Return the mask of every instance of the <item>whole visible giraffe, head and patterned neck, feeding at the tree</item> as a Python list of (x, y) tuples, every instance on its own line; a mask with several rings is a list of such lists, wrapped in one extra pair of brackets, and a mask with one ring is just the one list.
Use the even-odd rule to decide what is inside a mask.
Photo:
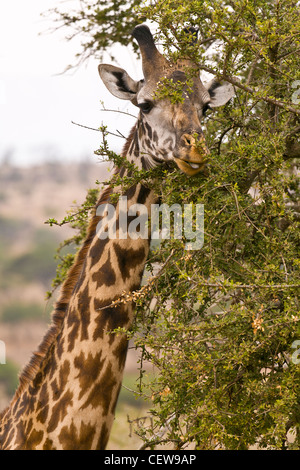
[[(193, 176), (203, 171), (208, 153), (200, 121), (208, 106), (225, 104), (232, 90), (216, 81), (205, 87), (198, 74), (192, 90), (184, 89), (182, 103), (154, 99), (163, 77), (185, 83), (188, 62), (168, 62), (146, 25), (136, 26), (132, 34), (141, 51), (142, 80), (113, 65), (99, 66), (108, 90), (140, 110), (122, 156), (145, 169), (175, 161)], [(130, 170), (121, 166), (115, 171), (123, 177)], [(100, 194), (87, 237), (62, 285), (52, 325), (0, 415), (0, 449), (92, 450), (107, 445), (128, 346), (127, 335), (113, 330), (128, 330), (134, 318), (132, 302), (112, 304), (122, 293), (139, 289), (150, 244), (150, 236), (98, 236), (103, 220), (98, 209), (115, 191), (106, 188)], [(150, 209), (157, 202), (151, 187), (141, 183), (125, 196), (128, 209), (136, 203)]]

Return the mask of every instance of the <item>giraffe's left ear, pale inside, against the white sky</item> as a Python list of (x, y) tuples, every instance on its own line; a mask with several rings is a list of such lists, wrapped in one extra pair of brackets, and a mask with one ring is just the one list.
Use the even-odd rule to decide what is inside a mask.
[(124, 69), (101, 64), (98, 70), (104, 85), (112, 95), (121, 100), (134, 100), (139, 89), (139, 82), (133, 80)]

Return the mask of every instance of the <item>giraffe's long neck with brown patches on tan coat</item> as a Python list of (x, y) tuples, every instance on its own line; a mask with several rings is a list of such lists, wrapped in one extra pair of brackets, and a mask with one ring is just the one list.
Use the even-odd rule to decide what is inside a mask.
[[(130, 161), (139, 156), (138, 132), (137, 125), (124, 148)], [(124, 195), (128, 208), (143, 204), (148, 213), (156, 202), (140, 183)], [(106, 201), (108, 191), (98, 206)], [(150, 240), (100, 239), (99, 221), (95, 214), (62, 288), (56, 324), (0, 417), (0, 448), (104, 449), (107, 444), (127, 354), (127, 335), (113, 330), (127, 330), (134, 318), (131, 302), (112, 303), (139, 288)]]

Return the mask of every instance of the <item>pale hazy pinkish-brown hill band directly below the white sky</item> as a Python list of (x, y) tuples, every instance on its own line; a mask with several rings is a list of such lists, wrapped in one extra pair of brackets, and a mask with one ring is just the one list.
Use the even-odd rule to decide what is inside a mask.
[(96, 180), (108, 178), (107, 164), (89, 161), (26, 168), (0, 165), (0, 215), (42, 227), (47, 218), (63, 217), (74, 201), (81, 202)]

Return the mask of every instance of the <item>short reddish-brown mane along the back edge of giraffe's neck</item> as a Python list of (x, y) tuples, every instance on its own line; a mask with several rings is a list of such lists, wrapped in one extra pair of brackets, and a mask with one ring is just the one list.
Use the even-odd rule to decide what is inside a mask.
[[(126, 143), (124, 145), (124, 148), (121, 154), (124, 158), (126, 157), (128, 149), (130, 147), (135, 129), (136, 129), (136, 126), (132, 128), (128, 138), (126, 139)], [(121, 171), (120, 168), (116, 168), (114, 171), (114, 174), (118, 174), (120, 173), (120, 171)], [(19, 375), (19, 385), (16, 389), (16, 392), (9, 406), (12, 406), (16, 402), (16, 400), (20, 397), (20, 395), (24, 392), (24, 390), (35, 379), (37, 373), (40, 370), (43, 359), (46, 357), (47, 352), (53, 345), (54, 341), (56, 340), (58, 334), (60, 333), (62, 329), (63, 321), (68, 310), (70, 298), (72, 296), (73, 290), (81, 274), (82, 266), (86, 259), (87, 252), (95, 236), (96, 227), (99, 222), (99, 217), (96, 216), (97, 207), (101, 204), (107, 203), (108, 198), (111, 195), (111, 193), (112, 193), (112, 187), (109, 186), (101, 193), (97, 201), (97, 204), (95, 208), (93, 209), (93, 214), (91, 216), (91, 220), (88, 226), (87, 236), (85, 238), (85, 241), (83, 242), (82, 247), (77, 252), (74, 263), (69, 269), (67, 278), (62, 284), (60, 297), (58, 301), (56, 302), (55, 309), (52, 313), (52, 323), (48, 331), (46, 332), (44, 338), (42, 339), (40, 345), (38, 346), (37, 351), (35, 351), (32, 354), (32, 357), (29, 360), (29, 363), (21, 371)], [(2, 412), (0, 412), (0, 420), (4, 417), (8, 408), (5, 408)], [(0, 422), (0, 426), (1, 426), (1, 422)]]

